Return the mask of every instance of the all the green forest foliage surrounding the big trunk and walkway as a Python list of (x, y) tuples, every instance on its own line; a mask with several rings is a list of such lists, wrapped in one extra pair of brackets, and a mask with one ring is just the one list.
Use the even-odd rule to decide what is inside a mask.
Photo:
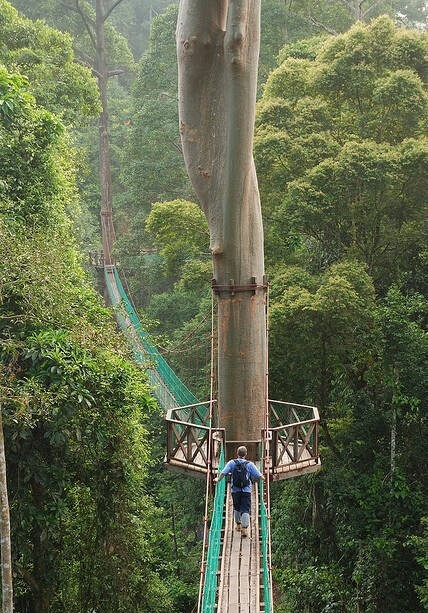
[[(98, 244), (98, 94), (73, 53), (91, 42), (59, 0), (13, 4), (69, 33), (0, 0), (0, 404), (16, 609), (188, 612), (203, 484), (161, 472), (162, 417), (73, 237)], [(202, 399), (211, 262), (179, 145), (177, 3), (151, 21), (168, 4), (124, 1), (107, 26), (109, 65), (127, 69), (109, 91), (115, 249), (145, 324)], [(398, 11), (419, 23), (423, 7), (366, 0), (370, 23), (348, 31), (357, 4), (262, 3), (270, 396), (322, 416), (322, 472), (272, 487), (281, 613), (428, 602), (426, 36), (370, 22)]]

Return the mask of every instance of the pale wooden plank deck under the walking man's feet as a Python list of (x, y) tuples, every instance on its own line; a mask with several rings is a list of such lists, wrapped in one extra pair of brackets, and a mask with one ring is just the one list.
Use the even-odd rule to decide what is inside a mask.
[(258, 613), (260, 611), (260, 541), (258, 485), (253, 485), (251, 522), (247, 537), (235, 530), (233, 504), (228, 485), (225, 528), (218, 592), (218, 613)]

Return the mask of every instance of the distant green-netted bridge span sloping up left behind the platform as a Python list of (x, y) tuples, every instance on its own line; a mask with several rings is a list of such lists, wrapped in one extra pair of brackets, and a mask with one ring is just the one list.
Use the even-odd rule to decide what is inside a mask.
[[(135, 332), (138, 341), (135, 339), (135, 336), (133, 336), (133, 334), (129, 330), (129, 324), (126, 321), (126, 318), (120, 314), (120, 311), (117, 312), (118, 323), (128, 337), (128, 340), (133, 349), (135, 360), (139, 363), (144, 364), (148, 368), (149, 381), (154, 386), (155, 394), (158, 397), (159, 402), (164, 408), (196, 404), (198, 402), (197, 398), (177, 377), (177, 375), (169, 366), (167, 361), (161, 356), (161, 354), (151, 341), (147, 332), (143, 329), (138, 315), (136, 314), (134, 308), (132, 307), (128, 299), (128, 296), (126, 295), (116, 267), (113, 266), (112, 270), (114, 272), (114, 278), (119, 297), (114, 291), (113, 285), (109, 278), (109, 274), (106, 270), (105, 279), (110, 300), (114, 306), (123, 307), (128, 319), (132, 324), (132, 329)], [(166, 399), (163, 390), (159, 389), (159, 383), (161, 383), (161, 387), (164, 386), (169, 392), (169, 399)], [(169, 400), (169, 402), (167, 400)]]

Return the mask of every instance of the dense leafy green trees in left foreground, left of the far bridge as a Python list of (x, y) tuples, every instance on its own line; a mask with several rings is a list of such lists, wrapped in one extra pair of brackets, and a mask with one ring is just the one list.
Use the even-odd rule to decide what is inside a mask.
[(81, 268), (72, 151), (25, 79), (3, 68), (0, 99), (0, 405), (16, 608), (175, 610), (176, 588), (161, 578), (174, 570), (170, 528), (146, 485), (158, 409)]

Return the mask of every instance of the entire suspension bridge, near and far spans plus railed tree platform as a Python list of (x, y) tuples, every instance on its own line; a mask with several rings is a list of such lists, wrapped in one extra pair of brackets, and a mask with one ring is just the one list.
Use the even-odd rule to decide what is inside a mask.
[[(205, 479), (204, 539), (198, 613), (272, 613), (270, 485), (318, 471), (319, 415), (316, 407), (268, 401), (265, 428), (251, 449), (264, 475), (255, 483), (248, 537), (234, 530), (230, 484), (213, 477), (235, 455), (216, 423), (216, 402), (198, 402), (162, 357), (128, 298), (114, 264), (102, 265), (108, 297), (136, 362), (144, 365), (153, 392), (166, 412), (166, 467)], [(211, 512), (210, 512), (210, 509)]]

